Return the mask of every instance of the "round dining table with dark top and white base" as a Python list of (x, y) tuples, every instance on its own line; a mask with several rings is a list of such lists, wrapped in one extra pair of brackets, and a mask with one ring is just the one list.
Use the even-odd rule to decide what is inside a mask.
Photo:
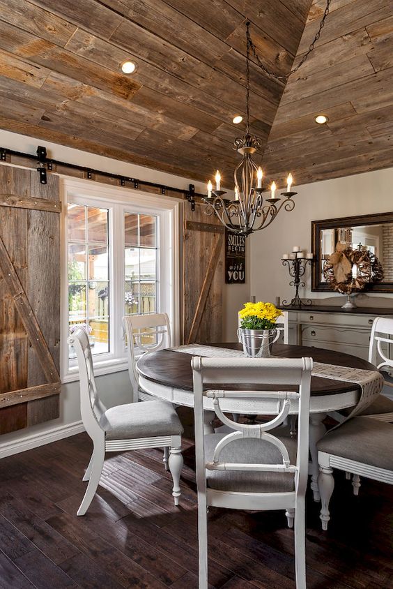
[[(240, 343), (219, 343), (209, 344), (219, 348), (241, 350)], [(201, 355), (203, 351), (201, 348)], [(376, 366), (366, 360), (335, 352), (323, 348), (309, 348), (302, 345), (283, 345), (275, 343), (272, 348), (272, 357), (280, 358), (302, 358), (311, 357), (316, 362), (332, 364), (335, 366), (346, 366), (349, 368), (360, 368), (362, 370), (376, 371)], [(194, 406), (194, 394), (192, 385), (192, 355), (180, 350), (163, 349), (157, 352), (144, 354), (137, 361), (137, 372), (139, 374), (139, 387), (142, 391), (177, 405), (187, 407)], [(239, 387), (228, 383), (223, 389), (236, 390)], [(252, 389), (268, 390), (268, 386), (250, 387)], [(291, 387), (286, 387), (291, 389)], [(241, 385), (241, 390), (247, 387)], [(293, 389), (295, 390), (295, 389)], [(310, 474), (311, 489), (314, 493), (314, 500), (320, 500), (318, 491), (318, 450), (316, 443), (326, 432), (323, 419), (328, 412), (354, 407), (360, 399), (360, 386), (353, 382), (333, 380), (311, 376), (310, 396), (310, 428), (309, 447), (311, 454)], [(277, 400), (273, 399), (222, 399), (220, 403), (222, 410), (234, 414), (245, 415), (276, 415)], [(205, 431), (213, 432), (213, 399), (203, 398)], [(296, 414), (296, 405), (291, 405), (291, 412)]]

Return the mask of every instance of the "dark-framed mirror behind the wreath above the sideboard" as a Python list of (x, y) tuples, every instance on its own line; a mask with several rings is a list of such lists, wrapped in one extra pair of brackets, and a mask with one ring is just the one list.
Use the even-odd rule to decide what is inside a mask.
[(393, 292), (393, 212), (311, 221), (311, 290), (329, 291), (323, 277), (323, 265), (342, 241), (352, 248), (366, 246), (383, 267), (383, 281), (367, 285), (366, 291)]

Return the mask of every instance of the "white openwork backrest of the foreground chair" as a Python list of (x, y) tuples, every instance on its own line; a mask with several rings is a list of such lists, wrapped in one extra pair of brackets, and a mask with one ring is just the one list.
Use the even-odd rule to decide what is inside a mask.
[[(192, 359), (194, 378), (194, 422), (196, 442), (196, 475), (198, 488), (206, 492), (206, 469), (208, 470), (245, 470), (259, 472), (293, 472), (295, 473), (296, 491), (305, 492), (308, 474), (309, 452), (309, 395), (311, 382), (311, 358), (300, 359), (253, 359), (253, 358), (201, 358)], [(297, 392), (252, 391), (252, 393), (232, 391), (206, 391), (206, 387), (227, 387), (228, 383), (236, 385), (291, 385)], [(264, 424), (239, 424), (233, 422), (222, 411), (222, 398), (272, 398), (277, 399), (277, 415)], [(203, 397), (213, 398), (213, 407), (217, 417), (233, 431), (220, 440), (213, 452), (213, 461), (206, 463), (203, 435)], [(296, 464), (291, 464), (286, 445), (268, 431), (277, 428), (291, 411), (291, 404), (298, 403), (299, 435)], [(224, 447), (234, 441), (256, 438), (273, 445), (281, 454), (281, 463), (248, 464), (225, 463), (220, 461)], [(201, 486), (201, 487), (200, 487)], [(202, 491), (203, 492), (203, 491)]]

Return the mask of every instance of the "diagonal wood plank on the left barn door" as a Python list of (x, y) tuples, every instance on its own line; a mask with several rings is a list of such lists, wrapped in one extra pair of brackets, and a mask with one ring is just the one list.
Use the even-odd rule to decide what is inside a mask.
[(3, 239), (0, 237), (0, 271), (3, 274), (4, 283), (7, 285), (10, 295), (17, 308), (20, 318), (22, 319), (24, 329), (29, 337), (31, 345), (36, 351), (38, 361), (43, 369), (45, 378), (49, 382), (59, 382), (60, 377), (54, 364), (51, 353), (43, 336), (43, 332), (38, 325), (36, 315), (30, 306), (29, 299), (26, 297), (22, 283), (17, 276), (13, 262), (8, 255)]

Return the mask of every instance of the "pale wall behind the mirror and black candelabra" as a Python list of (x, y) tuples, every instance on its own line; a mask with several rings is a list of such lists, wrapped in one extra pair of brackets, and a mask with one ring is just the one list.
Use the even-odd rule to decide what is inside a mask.
[[(275, 302), (277, 296), (291, 300), (293, 288), (289, 286), (288, 269), (282, 266), (280, 258), (283, 253), (290, 252), (292, 246), (311, 251), (311, 221), (393, 211), (393, 167), (295, 186), (294, 189), (298, 192), (294, 197), (295, 209), (289, 213), (281, 211), (270, 227), (249, 238), (251, 295), (257, 300)], [(302, 297), (340, 296), (311, 292), (309, 269), (305, 278)], [(392, 299), (393, 295), (376, 293), (369, 296)]]

